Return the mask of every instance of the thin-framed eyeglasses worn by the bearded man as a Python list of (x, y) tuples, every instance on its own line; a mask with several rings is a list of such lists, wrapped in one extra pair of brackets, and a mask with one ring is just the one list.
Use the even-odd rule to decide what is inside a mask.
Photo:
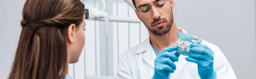
[[(168, 0), (160, 0), (157, 3), (154, 4), (155, 8), (162, 8), (164, 6), (164, 3), (166, 3)], [(138, 8), (137, 11), (141, 11), (143, 14), (148, 13), (149, 11), (152, 10), (152, 6), (143, 6)]]

